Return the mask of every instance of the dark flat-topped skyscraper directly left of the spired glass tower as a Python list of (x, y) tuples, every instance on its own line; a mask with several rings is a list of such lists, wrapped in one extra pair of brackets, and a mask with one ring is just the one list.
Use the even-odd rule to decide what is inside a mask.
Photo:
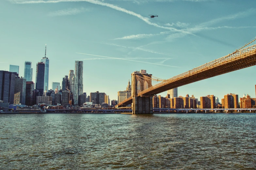
[(39, 90), (39, 95), (43, 95), (44, 89), (44, 70), (45, 63), (39, 62), (37, 63), (37, 71), (36, 71), (36, 89)]

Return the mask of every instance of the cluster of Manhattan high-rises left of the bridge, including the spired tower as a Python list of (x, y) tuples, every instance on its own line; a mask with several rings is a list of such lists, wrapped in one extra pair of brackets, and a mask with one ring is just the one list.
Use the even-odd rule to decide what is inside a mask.
[(83, 87), (83, 61), (75, 61), (75, 69), (62, 78), (62, 82), (52, 82), (49, 90), (49, 59), (44, 57), (36, 63), (35, 83), (32, 81), (31, 61), (24, 63), (24, 77), (19, 76), (19, 66), (10, 65), (9, 71), (0, 70), (0, 109), (8, 110), (9, 105), (38, 106), (48, 105), (56, 108), (92, 105), (109, 107), (109, 96), (105, 93), (90, 93), (87, 96)]

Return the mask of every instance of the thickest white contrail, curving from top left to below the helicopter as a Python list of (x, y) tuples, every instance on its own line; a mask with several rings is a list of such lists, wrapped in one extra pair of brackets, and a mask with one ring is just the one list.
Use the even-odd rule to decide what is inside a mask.
[(173, 31), (173, 32), (184, 32), (186, 34), (191, 34), (190, 32), (187, 32), (187, 31), (184, 31), (184, 30), (176, 29), (176, 28), (173, 28), (173, 27), (161, 26), (161, 25), (158, 25), (157, 23), (152, 23), (150, 21), (150, 18), (148, 18), (148, 17), (143, 17), (142, 15), (137, 14), (137, 13), (135, 13), (133, 11), (127, 10), (125, 8), (121, 8), (121, 7), (118, 7), (116, 5), (105, 3), (105, 2), (102, 2), (102, 1), (97, 1), (97, 0), (48, 0), (48, 1), (44, 1), (44, 0), (25, 0), (25, 1), (24, 0), (10, 0), (10, 2), (16, 3), (16, 4), (39, 4), (39, 3), (59, 3), (59, 2), (88, 2), (88, 3), (92, 3), (92, 4), (96, 4), (96, 5), (101, 5), (101, 6), (109, 7), (109, 8), (112, 8), (112, 9), (115, 9), (115, 10), (127, 13), (129, 15), (133, 15), (133, 16), (141, 19), (145, 23), (147, 23), (149, 25), (152, 25), (152, 26), (155, 26), (155, 27), (158, 27), (158, 28), (167, 29), (167, 30), (170, 30), (170, 31)]

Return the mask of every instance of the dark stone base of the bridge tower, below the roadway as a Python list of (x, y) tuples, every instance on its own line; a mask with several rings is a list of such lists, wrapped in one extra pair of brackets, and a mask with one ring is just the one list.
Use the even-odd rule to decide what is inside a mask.
[(153, 114), (153, 97), (133, 97), (133, 114)]

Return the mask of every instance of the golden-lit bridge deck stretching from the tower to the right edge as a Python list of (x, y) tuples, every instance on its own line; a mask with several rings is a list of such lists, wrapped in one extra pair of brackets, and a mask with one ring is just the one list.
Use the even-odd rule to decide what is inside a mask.
[[(246, 44), (245, 46), (247, 46), (248, 44)], [(197, 68), (194, 68), (192, 70), (174, 76), (168, 80), (165, 80), (157, 85), (149, 87), (148, 89), (138, 93), (137, 96), (156, 95), (169, 89), (173, 89), (210, 77), (256, 65), (256, 45), (252, 45), (246, 48), (244, 47), (236, 50), (232, 54), (228, 54), (209, 63), (205, 63)], [(133, 98), (130, 97), (118, 103), (118, 106), (131, 104), (132, 102)]]

